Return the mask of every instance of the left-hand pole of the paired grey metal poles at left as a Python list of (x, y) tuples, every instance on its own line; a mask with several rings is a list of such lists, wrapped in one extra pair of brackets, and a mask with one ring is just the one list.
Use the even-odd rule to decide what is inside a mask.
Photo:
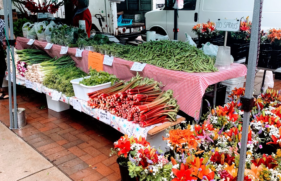
[[(3, 0), (4, 6), (4, 21), (5, 21), (5, 30), (9, 32), (9, 24), (8, 24), (8, 3), (7, 0)], [(8, 36), (8, 34), (7, 34)], [(11, 68), (10, 68), (10, 50), (7, 45), (7, 69), (8, 69), (8, 88), (9, 88), (9, 113), (10, 113), (10, 129), (13, 128), (13, 113), (12, 113), (12, 82), (11, 82)]]

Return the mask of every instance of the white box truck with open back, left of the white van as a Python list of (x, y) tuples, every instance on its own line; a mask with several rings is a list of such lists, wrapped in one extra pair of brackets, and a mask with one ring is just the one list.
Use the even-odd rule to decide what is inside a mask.
[[(122, 0), (121, 0), (122, 1)], [(125, 0), (120, 3), (109, 0), (89, 1), (89, 10), (92, 15), (92, 28), (98, 32), (110, 33), (118, 39), (135, 39), (144, 30), (144, 14), (156, 9), (151, 0)], [(133, 22), (131, 25), (118, 26), (118, 14), (138, 14), (141, 22)]]

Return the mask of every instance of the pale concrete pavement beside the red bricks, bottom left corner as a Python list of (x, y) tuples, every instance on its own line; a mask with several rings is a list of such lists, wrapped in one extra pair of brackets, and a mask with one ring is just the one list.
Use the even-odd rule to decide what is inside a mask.
[(4, 124), (0, 124), (0, 180), (71, 181)]

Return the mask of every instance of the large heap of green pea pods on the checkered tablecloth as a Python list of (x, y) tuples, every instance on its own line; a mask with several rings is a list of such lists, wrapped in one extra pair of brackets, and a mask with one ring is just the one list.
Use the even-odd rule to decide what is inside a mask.
[(182, 41), (149, 41), (131, 49), (120, 58), (189, 73), (218, 71), (213, 57)]

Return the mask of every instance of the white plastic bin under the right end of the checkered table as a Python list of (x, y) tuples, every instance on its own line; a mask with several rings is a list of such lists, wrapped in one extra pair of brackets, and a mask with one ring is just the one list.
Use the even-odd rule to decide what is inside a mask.
[(237, 89), (244, 86), (245, 77), (237, 77), (222, 81), (221, 84), (226, 85), (225, 102), (228, 102), (228, 95), (231, 94), (232, 90), (236, 87)]

